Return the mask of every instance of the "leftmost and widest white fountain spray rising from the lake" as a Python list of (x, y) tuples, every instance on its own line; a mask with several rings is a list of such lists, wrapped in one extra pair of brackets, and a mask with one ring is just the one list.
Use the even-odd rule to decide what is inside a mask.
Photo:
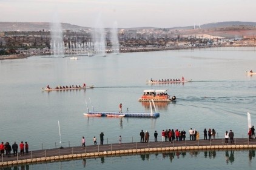
[(55, 57), (64, 57), (64, 42), (62, 37), (62, 27), (59, 23), (58, 15), (55, 13), (51, 24), (51, 50)]

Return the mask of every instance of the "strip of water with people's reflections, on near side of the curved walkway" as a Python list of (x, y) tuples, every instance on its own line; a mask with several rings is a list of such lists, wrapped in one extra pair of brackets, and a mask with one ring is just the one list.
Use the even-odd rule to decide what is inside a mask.
[[(236, 159), (235, 159), (236, 157)], [(194, 160), (197, 161), (194, 161)], [(184, 164), (185, 166), (191, 164), (191, 166), (198, 165), (197, 162), (204, 161), (207, 164), (214, 164), (218, 169), (229, 169), (226, 166), (236, 166), (240, 165), (244, 169), (248, 169), (252, 165), (256, 165), (255, 150), (227, 150), (227, 151), (175, 151), (175, 152), (162, 152), (162, 153), (152, 153), (152, 154), (140, 154), (140, 155), (121, 155), (121, 156), (107, 156), (99, 158), (87, 158), (79, 160), (70, 160), (64, 162), (55, 163), (41, 163), (33, 165), (19, 165), (13, 167), (5, 167), (3, 170), (18, 170), (18, 169), (134, 169), (144, 166), (145, 163), (149, 164), (149, 168), (160, 168), (163, 165), (172, 164), (173, 168), (178, 168), (177, 165)], [(141, 160), (141, 161), (140, 161)], [(249, 162), (248, 162), (249, 160)], [(134, 163), (136, 162), (136, 163)], [(236, 162), (236, 163), (235, 163)], [(104, 166), (101, 166), (103, 165)], [(124, 166), (127, 165), (127, 166)], [(226, 166), (225, 166), (226, 165)], [(83, 166), (83, 167), (81, 167)], [(51, 168), (49, 168), (51, 167)], [(201, 165), (198, 165), (198, 169)], [(239, 169), (239, 168), (238, 168)], [(250, 168), (249, 168), (250, 169)]]

